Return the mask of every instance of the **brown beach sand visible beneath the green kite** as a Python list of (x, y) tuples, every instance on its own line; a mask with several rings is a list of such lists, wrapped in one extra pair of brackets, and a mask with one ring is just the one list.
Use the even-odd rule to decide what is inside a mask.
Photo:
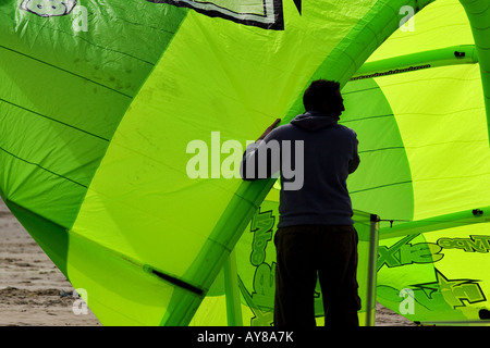
[[(51, 262), (0, 199), (0, 325), (100, 326)], [(413, 326), (377, 303), (377, 326)]]

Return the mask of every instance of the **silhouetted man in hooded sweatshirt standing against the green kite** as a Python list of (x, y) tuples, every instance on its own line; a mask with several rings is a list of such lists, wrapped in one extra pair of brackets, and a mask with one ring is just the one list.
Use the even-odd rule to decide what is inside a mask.
[[(303, 96), (306, 112), (290, 124), (274, 128), (272, 124), (247, 148), (242, 162), (244, 179), (250, 176), (247, 166), (267, 165), (268, 176), (273, 157), (256, 161), (268, 144), (281, 145), (281, 194), (277, 247), (274, 325), (315, 325), (314, 291), (317, 274), (323, 295), (326, 326), (358, 326), (357, 311), (357, 233), (353, 227), (352, 202), (346, 179), (358, 164), (357, 137), (354, 130), (339, 125), (345, 110), (335, 82), (311, 83)], [(264, 139), (264, 140), (262, 140)], [(284, 140), (302, 142), (292, 147), (289, 159), (303, 165), (302, 186), (286, 189), (291, 177), (283, 175)], [(303, 149), (298, 160), (298, 149)], [(264, 162), (264, 161), (262, 161)], [(297, 167), (296, 167), (297, 170)], [(254, 172), (254, 171), (252, 171)]]

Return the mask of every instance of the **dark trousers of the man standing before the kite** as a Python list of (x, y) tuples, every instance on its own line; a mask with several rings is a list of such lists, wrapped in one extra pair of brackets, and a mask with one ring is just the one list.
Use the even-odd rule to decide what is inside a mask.
[(317, 274), (326, 326), (358, 326), (357, 232), (353, 226), (278, 228), (274, 326), (314, 326)]

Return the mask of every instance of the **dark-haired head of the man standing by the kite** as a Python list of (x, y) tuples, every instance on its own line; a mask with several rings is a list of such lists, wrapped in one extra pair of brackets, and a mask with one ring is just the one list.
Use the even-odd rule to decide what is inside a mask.
[(306, 111), (321, 111), (335, 120), (345, 110), (343, 101), (340, 84), (327, 79), (314, 80), (303, 95)]

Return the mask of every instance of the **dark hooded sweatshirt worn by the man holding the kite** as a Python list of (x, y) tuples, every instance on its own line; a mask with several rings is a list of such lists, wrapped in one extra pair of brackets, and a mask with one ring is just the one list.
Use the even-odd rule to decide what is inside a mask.
[[(269, 151), (272, 154), (268, 157), (266, 176), (278, 177), (273, 163), (279, 161), (282, 188), (278, 227), (352, 225), (346, 181), (359, 165), (355, 132), (317, 111), (301, 114), (290, 124), (274, 128), (258, 146), (247, 147), (242, 161), (244, 179), (265, 178), (258, 173), (261, 163), (258, 152), (267, 147), (273, 149), (273, 142), (280, 145), (281, 154)], [(252, 175), (246, 171), (250, 161), (256, 169)]]

